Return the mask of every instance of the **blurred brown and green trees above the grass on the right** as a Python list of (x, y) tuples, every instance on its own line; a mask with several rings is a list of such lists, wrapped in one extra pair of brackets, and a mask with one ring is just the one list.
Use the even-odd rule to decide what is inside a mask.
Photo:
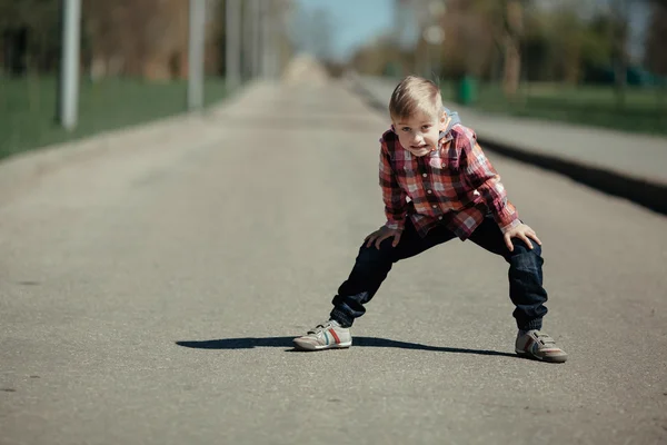
[[(667, 0), (610, 0), (588, 2), (557, 0), (551, 7), (531, 0), (449, 0), (436, 23), (445, 31), (434, 47), (424, 37), (410, 48), (397, 44), (392, 30), (358, 50), (355, 69), (369, 75), (397, 70), (424, 71), (457, 79), (466, 75), (501, 82), (516, 92), (519, 81), (616, 83), (659, 81), (667, 76)], [(629, 12), (644, 3), (650, 8), (644, 57), (630, 57)], [(422, 8), (414, 2), (415, 8)], [(420, 30), (421, 31), (421, 30)], [(640, 67), (638, 69), (637, 67)]]

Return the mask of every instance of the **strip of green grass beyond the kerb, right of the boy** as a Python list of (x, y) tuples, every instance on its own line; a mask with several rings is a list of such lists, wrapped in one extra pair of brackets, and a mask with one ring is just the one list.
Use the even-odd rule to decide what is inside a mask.
[[(445, 93), (454, 98), (454, 88)], [(508, 101), (496, 85), (480, 86), (474, 107), (489, 112), (667, 135), (667, 90), (628, 88), (619, 102), (609, 87), (524, 86)]]

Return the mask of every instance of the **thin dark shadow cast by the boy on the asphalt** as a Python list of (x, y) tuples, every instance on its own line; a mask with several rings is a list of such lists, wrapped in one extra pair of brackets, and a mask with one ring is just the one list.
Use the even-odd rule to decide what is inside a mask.
[[(255, 347), (292, 347), (293, 337), (265, 337), (265, 338), (221, 338), (217, 340), (201, 342), (176, 342), (177, 345), (196, 349), (251, 349)], [(501, 353), (497, 350), (485, 349), (462, 349), (441, 346), (420, 345), (418, 343), (396, 342), (378, 337), (355, 337), (355, 347), (392, 347), (400, 349), (432, 350), (437, 353), (457, 353), (457, 354), (477, 354), (496, 355), (502, 357), (517, 357), (516, 354)]]

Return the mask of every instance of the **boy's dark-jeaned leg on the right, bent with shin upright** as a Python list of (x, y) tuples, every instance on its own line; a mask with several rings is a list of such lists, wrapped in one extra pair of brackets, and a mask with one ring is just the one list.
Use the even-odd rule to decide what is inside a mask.
[(512, 239), (514, 251), (509, 251), (500, 228), (492, 217), (472, 233), (470, 240), (509, 263), (509, 297), (516, 309), (512, 314), (520, 330), (541, 329), (547, 314), (547, 291), (542, 287), (541, 248), (532, 241), (532, 249), (520, 239)]

